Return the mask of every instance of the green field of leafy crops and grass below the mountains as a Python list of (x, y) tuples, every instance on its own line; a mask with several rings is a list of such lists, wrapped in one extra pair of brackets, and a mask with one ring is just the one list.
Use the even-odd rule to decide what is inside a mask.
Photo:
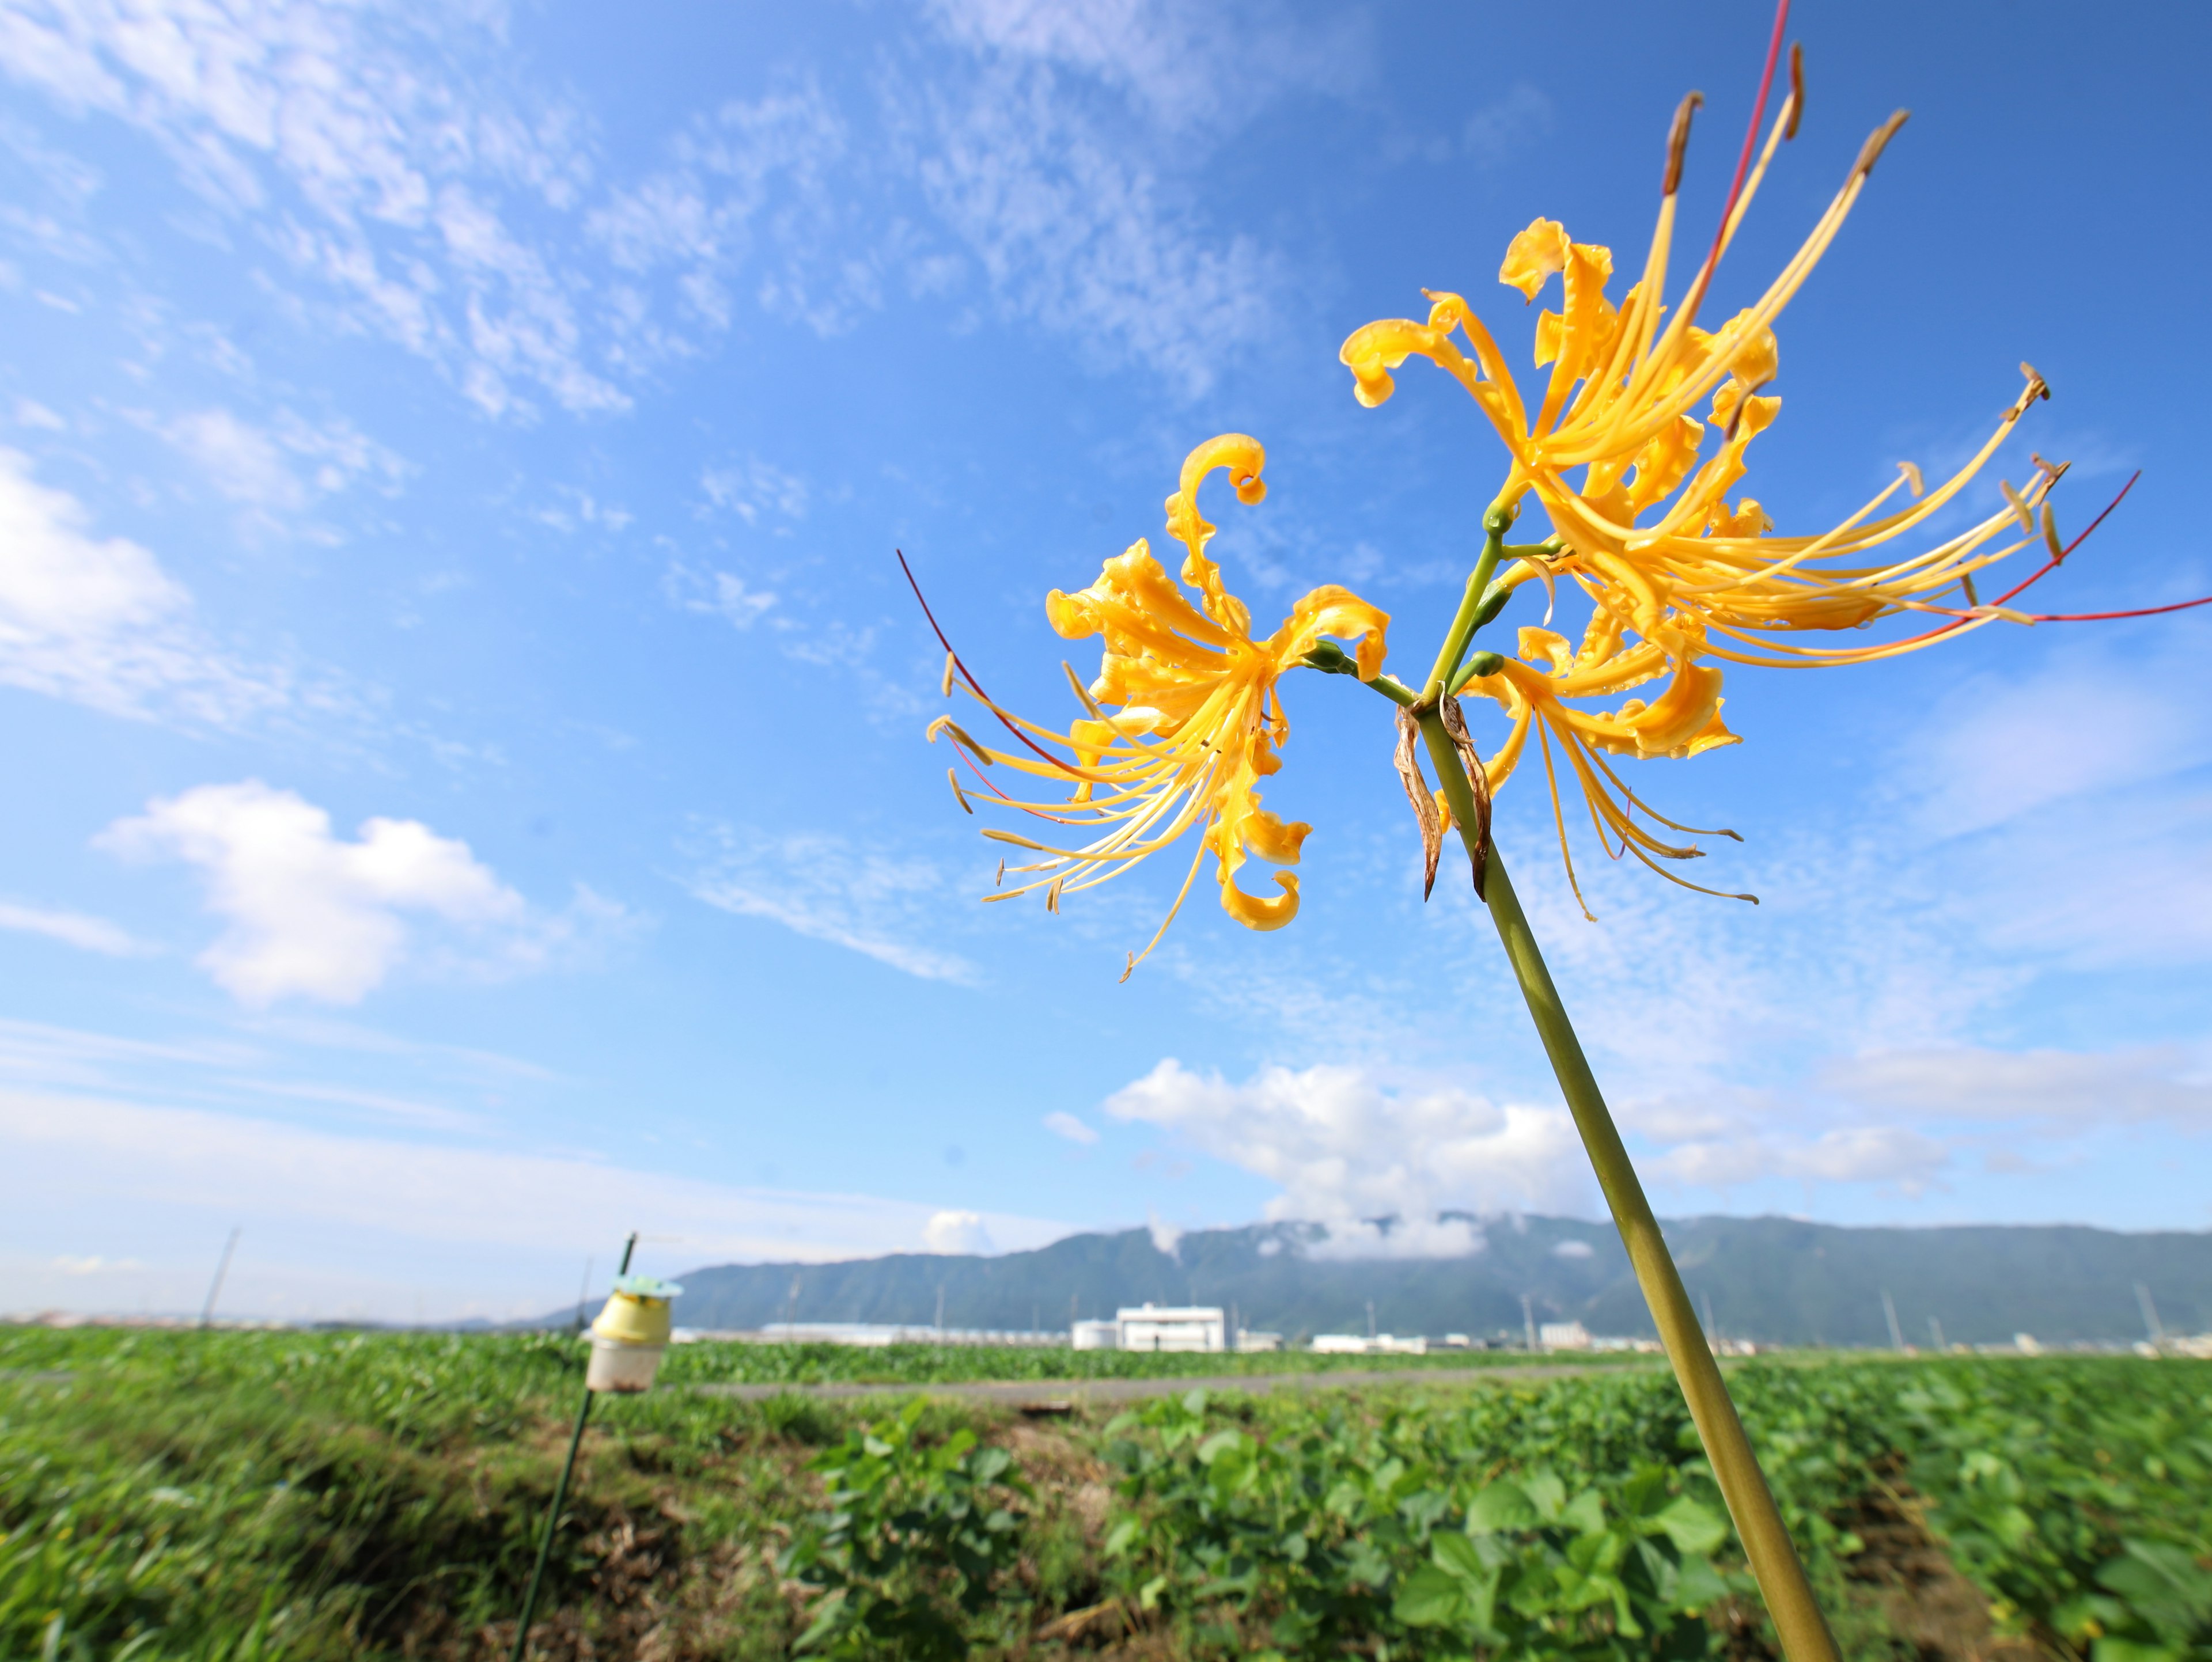
[[(1223, 1364), (670, 1353), (599, 1406), (533, 1653), (1770, 1653), (1650, 1368), (1051, 1419), (688, 1388), (1073, 1361)], [(504, 1655), (580, 1372), (553, 1337), (0, 1328), (0, 1658)], [(1847, 1655), (2212, 1662), (2212, 1366), (1732, 1381)]]

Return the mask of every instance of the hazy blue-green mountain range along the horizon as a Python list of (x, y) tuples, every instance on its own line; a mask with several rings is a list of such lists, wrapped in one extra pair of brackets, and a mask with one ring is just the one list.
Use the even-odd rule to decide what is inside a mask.
[[(1124, 1229), (1002, 1255), (898, 1253), (836, 1264), (721, 1264), (679, 1280), (677, 1322), (891, 1322), (1064, 1328), (1128, 1304), (1234, 1306), (1248, 1328), (1517, 1337), (1579, 1319), (1599, 1335), (1650, 1335), (1610, 1224), (1573, 1218), (1464, 1220), (1458, 1258), (1338, 1255), (1318, 1224)], [(2170, 1333), (2212, 1328), (2212, 1233), (2117, 1233), (2073, 1224), (1847, 1229), (1792, 1218), (1679, 1218), (1666, 1235), (1692, 1302), (1719, 1335), (1772, 1344), (1991, 1344), (2141, 1339), (2150, 1308)], [(1385, 1238), (1387, 1246), (1387, 1238)], [(2143, 1288), (2143, 1295), (2137, 1288)], [(1524, 1306), (1522, 1300), (1528, 1300)]]

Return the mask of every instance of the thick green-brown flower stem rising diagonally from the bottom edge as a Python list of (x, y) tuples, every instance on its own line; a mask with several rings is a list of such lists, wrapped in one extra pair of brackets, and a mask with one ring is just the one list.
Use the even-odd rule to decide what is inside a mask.
[[(1429, 756), (1442, 780), (1444, 800), (1451, 804), (1451, 818), (1460, 827), (1460, 840), (1467, 844), (1469, 858), (1473, 858), (1473, 787), (1467, 782), (1467, 771), (1451, 747), (1451, 736), (1433, 709), (1422, 714), (1420, 734), (1429, 740)], [(1484, 869), (1482, 888), (1489, 900), (1491, 922), (1498, 924), (1498, 939), (1504, 942), (1506, 961), (1513, 966), (1513, 979), (1520, 981), (1522, 997), (1528, 1001), (1528, 1014), (1535, 1019), (1537, 1037), (1544, 1041), (1544, 1054), (1551, 1056), (1551, 1070), (1559, 1076), (1559, 1090), (1566, 1092), (1566, 1107), (1575, 1116), (1575, 1129), (1582, 1132), (1582, 1147), (1590, 1154), (1597, 1185), (1604, 1189), (1606, 1207), (1610, 1207), (1613, 1222), (1621, 1231), (1628, 1262), (1637, 1271), (1637, 1286), (1644, 1288), (1644, 1302), (1659, 1326), (1668, 1364), (1674, 1368), (1681, 1395), (1690, 1403), (1690, 1419), (1697, 1421), (1697, 1434), (1705, 1443), (1705, 1461), (1712, 1465), (1721, 1496), (1728, 1501), (1728, 1514), (1736, 1523), (1736, 1538), (1743, 1540), (1743, 1554), (1752, 1560), (1759, 1591), (1774, 1616), (1783, 1655), (1790, 1662), (1840, 1662), (1836, 1640), (1827, 1631), (1820, 1607), (1814, 1602), (1812, 1582), (1805, 1580), (1805, 1565), (1798, 1563), (1796, 1547), (1774, 1505), (1774, 1494), (1759, 1470), (1759, 1456), (1752, 1454), (1752, 1443), (1743, 1434), (1743, 1421), (1736, 1419), (1736, 1406), (1728, 1397), (1721, 1366), (1714, 1361), (1712, 1346), (1705, 1342), (1697, 1313), (1690, 1308), (1690, 1293), (1683, 1288), (1674, 1258), (1666, 1249), (1659, 1220), (1652, 1216), (1650, 1200), (1644, 1198), (1644, 1185), (1637, 1180), (1637, 1169), (1621, 1145), (1621, 1134), (1613, 1125), (1613, 1114), (1606, 1112), (1597, 1076), (1590, 1074), (1590, 1061), (1582, 1054), (1582, 1041), (1575, 1039), (1575, 1028), (1566, 1019), (1559, 988), (1551, 983), (1551, 970), (1544, 968), (1544, 955), (1537, 950), (1535, 933), (1528, 928), (1528, 917), (1520, 908), (1520, 897), (1513, 893), (1513, 882), (1506, 877), (1495, 846)]]

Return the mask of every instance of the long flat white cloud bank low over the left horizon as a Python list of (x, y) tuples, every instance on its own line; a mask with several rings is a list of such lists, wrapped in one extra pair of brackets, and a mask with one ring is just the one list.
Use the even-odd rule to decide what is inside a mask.
[[(139, 1280), (71, 1288), (51, 1258), (13, 1260), (9, 1300), (197, 1308), (232, 1224), (232, 1313), (434, 1319), (542, 1315), (575, 1295), (586, 1253), (644, 1229), (675, 1273), (732, 1260), (832, 1262), (911, 1251), (936, 1209), (648, 1171), (577, 1154), (405, 1143), (283, 1121), (0, 1090), (11, 1224), (73, 1258), (131, 1251)], [(690, 1163), (697, 1169), (697, 1160)], [(971, 1213), (1002, 1249), (1068, 1224)], [(35, 1271), (35, 1273), (33, 1273)], [(418, 1302), (425, 1291), (427, 1302)]]

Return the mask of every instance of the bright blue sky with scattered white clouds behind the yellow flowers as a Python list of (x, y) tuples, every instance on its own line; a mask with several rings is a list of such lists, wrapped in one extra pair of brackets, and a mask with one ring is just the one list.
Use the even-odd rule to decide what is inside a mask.
[[(1338, 343), (1531, 219), (1641, 256), (1668, 115), (1710, 234), (1763, 4), (0, 9), (0, 1306), (538, 1311), (602, 1271), (1068, 1229), (1590, 1213), (1495, 939), (1380, 701), (1294, 676), (1305, 906), (1161, 862), (978, 906), (940, 654), (1068, 712), (1042, 595), (1161, 541), (1263, 623), (1343, 581), (1425, 652), (1500, 477)], [(2073, 460), (2048, 610), (2212, 588), (2208, 22), (1803, 4), (1807, 117), (1712, 316), (1913, 119), (1781, 323), (1785, 530)], [(1221, 486), (1214, 486), (1221, 491)], [(1223, 493), (1225, 502), (1225, 493)], [(1533, 621), (1509, 617), (1506, 623)], [(1747, 908), (1500, 840), (1661, 1211), (2212, 1224), (2212, 617), (1732, 670), (1648, 762)], [(1095, 650), (1095, 648), (1088, 648)], [(1077, 654), (1082, 665), (1086, 654)], [(1478, 743), (1484, 736), (1478, 718)], [(1117, 893), (1119, 891), (1119, 893)], [(1422, 1238), (1467, 1249), (1453, 1231)]]

